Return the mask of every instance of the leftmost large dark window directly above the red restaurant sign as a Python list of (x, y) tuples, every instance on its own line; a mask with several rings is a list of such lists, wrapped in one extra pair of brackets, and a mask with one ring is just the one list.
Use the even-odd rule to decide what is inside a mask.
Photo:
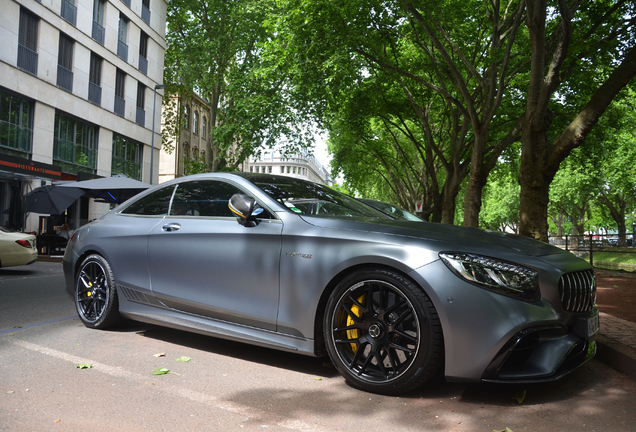
[(0, 90), (0, 152), (28, 157), (33, 143), (33, 102)]

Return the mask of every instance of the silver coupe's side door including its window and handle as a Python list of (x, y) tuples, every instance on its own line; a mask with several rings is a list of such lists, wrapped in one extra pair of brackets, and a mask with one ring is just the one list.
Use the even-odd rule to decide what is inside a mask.
[(179, 185), (171, 215), (150, 232), (152, 291), (173, 309), (275, 330), (283, 225), (246, 228), (225, 216), (234, 193), (244, 192), (217, 181)]

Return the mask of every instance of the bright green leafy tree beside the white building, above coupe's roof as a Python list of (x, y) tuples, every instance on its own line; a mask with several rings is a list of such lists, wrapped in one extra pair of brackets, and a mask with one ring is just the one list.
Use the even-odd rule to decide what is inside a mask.
[(286, 100), (281, 69), (263, 55), (276, 36), (268, 27), (274, 10), (274, 0), (168, 2), (168, 94), (196, 91), (209, 102), (211, 171), (237, 169), (280, 137), (290, 148), (308, 142), (301, 110)]

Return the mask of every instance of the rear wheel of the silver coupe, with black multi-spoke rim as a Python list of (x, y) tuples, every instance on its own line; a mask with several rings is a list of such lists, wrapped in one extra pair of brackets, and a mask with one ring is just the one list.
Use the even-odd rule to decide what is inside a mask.
[(113, 271), (101, 255), (89, 255), (79, 267), (75, 276), (75, 307), (80, 320), (89, 328), (107, 329), (121, 320)]

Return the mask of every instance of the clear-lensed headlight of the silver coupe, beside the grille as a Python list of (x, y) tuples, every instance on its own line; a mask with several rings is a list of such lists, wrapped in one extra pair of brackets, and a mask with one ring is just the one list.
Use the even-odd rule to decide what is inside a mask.
[(481, 288), (524, 301), (537, 301), (538, 274), (519, 264), (468, 253), (440, 253), (444, 264), (457, 276)]

